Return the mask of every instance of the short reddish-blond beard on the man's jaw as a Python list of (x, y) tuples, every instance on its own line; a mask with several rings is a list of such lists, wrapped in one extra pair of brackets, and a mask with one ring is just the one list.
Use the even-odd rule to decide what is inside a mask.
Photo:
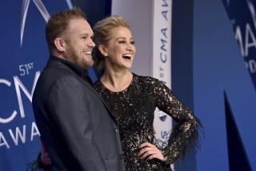
[(82, 54), (81, 57), (79, 57), (79, 55), (75, 52), (74, 48), (72, 47), (70, 47), (66, 53), (66, 60), (78, 66), (81, 66), (82, 68), (88, 68), (94, 65), (93, 59), (91, 60), (91, 62), (86, 62), (86, 60), (82, 58)]

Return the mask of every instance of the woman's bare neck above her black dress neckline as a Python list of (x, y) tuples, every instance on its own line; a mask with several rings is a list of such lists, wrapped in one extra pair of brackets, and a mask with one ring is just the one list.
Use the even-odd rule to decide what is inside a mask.
[(126, 89), (133, 79), (133, 74), (130, 70), (109, 70), (106, 68), (102, 78), (100, 78), (103, 85), (113, 92), (120, 92)]

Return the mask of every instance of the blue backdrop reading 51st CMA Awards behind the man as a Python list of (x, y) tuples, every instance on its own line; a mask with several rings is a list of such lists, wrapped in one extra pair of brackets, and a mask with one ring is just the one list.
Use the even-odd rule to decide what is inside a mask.
[[(49, 58), (45, 26), (50, 14), (79, 6), (90, 24), (110, 14), (110, 1), (22, 0), (1, 2), (0, 170), (26, 170), (40, 152), (32, 94)], [(93, 7), (97, 6), (94, 11)], [(90, 75), (95, 80), (94, 70)]]

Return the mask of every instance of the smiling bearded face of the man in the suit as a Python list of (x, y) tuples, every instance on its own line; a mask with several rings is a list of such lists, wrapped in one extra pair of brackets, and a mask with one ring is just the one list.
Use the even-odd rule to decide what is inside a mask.
[(71, 19), (65, 35), (64, 57), (66, 60), (84, 68), (93, 66), (91, 51), (95, 44), (92, 37), (93, 30), (85, 19)]

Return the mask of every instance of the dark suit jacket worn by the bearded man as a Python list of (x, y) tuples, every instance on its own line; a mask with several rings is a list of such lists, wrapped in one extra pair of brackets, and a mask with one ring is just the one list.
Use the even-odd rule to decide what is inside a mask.
[(32, 103), (52, 170), (125, 170), (117, 123), (81, 67), (50, 57)]

